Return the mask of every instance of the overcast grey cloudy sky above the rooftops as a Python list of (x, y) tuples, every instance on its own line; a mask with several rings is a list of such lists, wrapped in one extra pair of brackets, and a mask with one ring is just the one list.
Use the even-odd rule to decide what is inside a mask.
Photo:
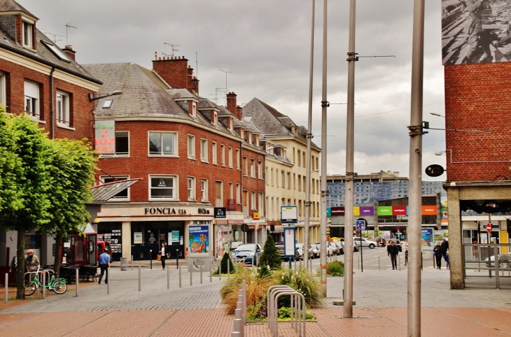
[[(200, 80), (200, 95), (242, 105), (254, 97), (307, 126), (312, 0), (18, 0), (39, 18), (38, 29), (67, 42), (81, 64), (135, 62), (151, 69), (155, 52), (184, 56)], [(346, 52), (349, 0), (328, 1), (329, 174), (346, 169)], [(358, 174), (408, 176), (412, 0), (356, 1), (355, 156)], [(316, 0), (312, 131), (321, 145), (323, 1)], [(440, 1), (426, 1), (423, 120), (444, 128)], [(57, 34), (53, 36), (52, 34)], [(61, 41), (58, 41), (61, 40)], [(221, 71), (223, 70), (223, 71)], [(423, 136), (423, 169), (445, 163), (444, 131)], [(439, 178), (424, 180), (444, 180)]]

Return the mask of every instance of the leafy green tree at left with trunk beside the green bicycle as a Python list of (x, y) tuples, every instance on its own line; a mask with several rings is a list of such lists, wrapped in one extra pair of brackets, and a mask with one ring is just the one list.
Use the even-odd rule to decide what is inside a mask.
[(48, 139), (26, 115), (0, 113), (0, 127), (0, 224), (18, 231), (16, 298), (24, 299), (25, 233), (62, 236), (85, 224), (94, 154), (79, 141)]

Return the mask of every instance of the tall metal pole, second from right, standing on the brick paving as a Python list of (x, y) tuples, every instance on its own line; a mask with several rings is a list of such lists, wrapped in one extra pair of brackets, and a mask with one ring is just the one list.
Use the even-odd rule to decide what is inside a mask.
[(346, 194), (344, 199), (344, 318), (353, 318), (353, 130), (355, 128), (355, 0), (349, 3)]

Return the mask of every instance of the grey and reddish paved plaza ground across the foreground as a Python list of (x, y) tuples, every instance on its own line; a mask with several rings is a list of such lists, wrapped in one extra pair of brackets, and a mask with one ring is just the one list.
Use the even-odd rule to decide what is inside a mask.
[[(317, 261), (316, 261), (317, 263)], [(175, 266), (167, 271), (111, 268), (110, 293), (97, 282), (71, 286), (63, 295), (0, 304), (0, 336), (231, 336), (234, 317), (225, 315), (219, 289), (225, 282), (209, 273), (183, 268), (181, 287)], [(353, 314), (344, 319), (343, 278), (328, 278), (323, 308), (312, 309), (307, 336), (407, 336), (407, 271), (355, 270)], [(449, 271), (425, 267), (422, 273), (422, 336), (510, 336), (511, 291), (449, 289)], [(265, 323), (249, 323), (247, 337), (271, 336)], [(279, 324), (279, 336), (297, 336), (290, 324)]]

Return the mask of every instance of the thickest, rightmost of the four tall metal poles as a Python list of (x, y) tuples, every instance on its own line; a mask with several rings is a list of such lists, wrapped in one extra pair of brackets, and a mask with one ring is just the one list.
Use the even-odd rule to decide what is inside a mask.
[(414, 0), (412, 99), (410, 107), (408, 220), (408, 335), (421, 336), (422, 88), (424, 3)]

